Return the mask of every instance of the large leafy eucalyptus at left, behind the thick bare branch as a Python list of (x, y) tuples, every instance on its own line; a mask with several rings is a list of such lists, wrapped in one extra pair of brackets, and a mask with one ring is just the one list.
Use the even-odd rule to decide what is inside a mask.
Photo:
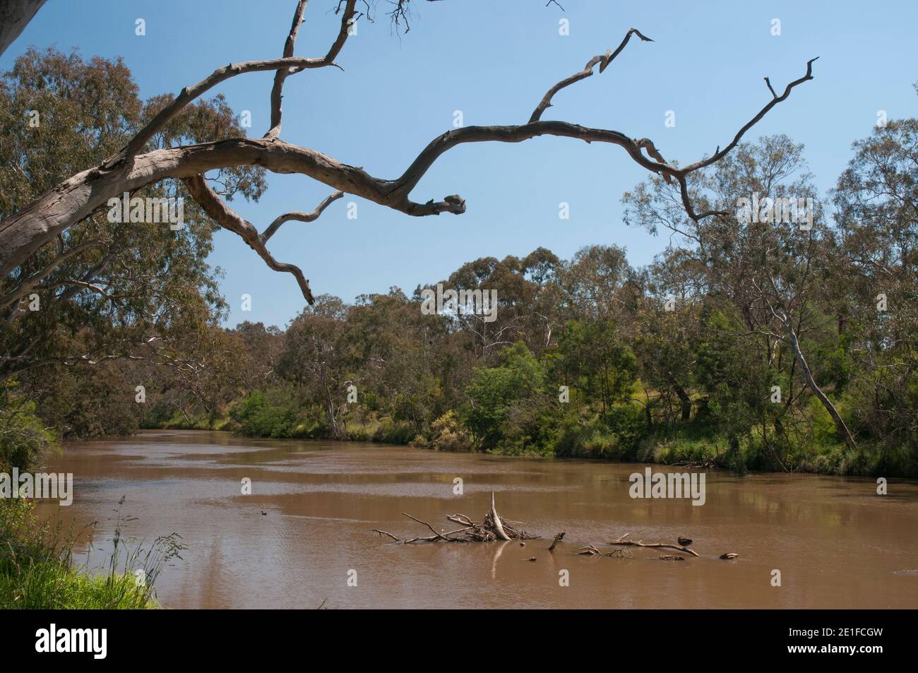
[[(165, 105), (162, 96), (140, 99), (120, 59), (27, 50), (0, 83), (0, 227), (67, 175), (118, 151)], [(240, 132), (217, 96), (186, 107), (149, 145), (162, 151)], [(264, 188), (258, 167), (229, 167), (215, 179), (228, 197), (257, 198)], [(175, 180), (134, 192), (157, 200), (184, 193)], [(207, 265), (216, 227), (203, 211), (190, 203), (173, 229), (112, 219), (109, 210), (60, 231), (0, 277), (0, 379), (15, 377), (64, 432), (136, 428), (144, 409), (135, 403), (138, 386), (185, 398), (182, 409), (214, 409), (212, 388), (233, 352), (215, 331), (224, 303)], [(104, 366), (83, 382), (68, 376), (87, 365)], [(168, 368), (168, 385), (146, 365)], [(104, 427), (94, 425), (93, 405), (111, 411)]]

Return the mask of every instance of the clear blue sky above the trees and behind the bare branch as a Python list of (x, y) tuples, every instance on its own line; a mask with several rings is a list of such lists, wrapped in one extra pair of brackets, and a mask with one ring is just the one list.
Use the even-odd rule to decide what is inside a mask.
[[(371, 0), (372, 1), (372, 0)], [(282, 137), (323, 151), (376, 176), (401, 174), (434, 136), (450, 129), (453, 110), (465, 124), (523, 123), (546, 89), (614, 49), (634, 26), (655, 39), (633, 40), (605, 73), (565, 89), (543, 119), (650, 137), (666, 159), (694, 161), (728, 142), (768, 100), (762, 78), (778, 91), (800, 77), (814, 56), (815, 79), (794, 90), (749, 136), (787, 133), (803, 142), (823, 192), (850, 158), (850, 144), (871, 131), (877, 111), (913, 117), (918, 80), (918, 3), (611, 2), (562, 0), (415, 0), (407, 35), (395, 36), (376, 4), (375, 24), (327, 68), (287, 79)], [(27, 45), (79, 47), (85, 57), (124, 57), (144, 97), (178, 92), (229, 62), (281, 55), (294, 0), (50, 0), (0, 59), (8, 69)], [(336, 31), (337, 0), (310, 0), (297, 55), (324, 55)], [(134, 34), (146, 21), (145, 37)], [(558, 34), (567, 18), (570, 35)], [(781, 35), (771, 35), (771, 21)], [(222, 93), (237, 111), (252, 111), (250, 135), (268, 126), (272, 73), (236, 77)], [(676, 113), (666, 128), (666, 110)], [(593, 243), (625, 246), (632, 264), (648, 263), (666, 240), (621, 223), (621, 193), (645, 173), (613, 146), (535, 139), (453, 149), (413, 193), (415, 200), (465, 197), (465, 215), (410, 218), (345, 196), (318, 222), (289, 222), (270, 248), (300, 265), (316, 294), (347, 301), (445, 277), (477, 257), (523, 255), (544, 246), (569, 257)], [(292, 209), (312, 209), (330, 187), (303, 175), (269, 174), (257, 204), (237, 201), (262, 229)], [(346, 202), (359, 217), (346, 218)], [(570, 204), (570, 219), (558, 204)], [(285, 325), (303, 307), (292, 276), (268, 270), (238, 238), (221, 231), (212, 264), (226, 270), (222, 289), (229, 324)], [(252, 311), (240, 296), (252, 295)]]

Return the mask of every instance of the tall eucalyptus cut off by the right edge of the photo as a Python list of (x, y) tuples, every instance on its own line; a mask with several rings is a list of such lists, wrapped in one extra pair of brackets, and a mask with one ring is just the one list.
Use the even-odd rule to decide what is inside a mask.
[(871, 435), (918, 436), (918, 119), (854, 143), (834, 191), (840, 325), (853, 342), (853, 413)]

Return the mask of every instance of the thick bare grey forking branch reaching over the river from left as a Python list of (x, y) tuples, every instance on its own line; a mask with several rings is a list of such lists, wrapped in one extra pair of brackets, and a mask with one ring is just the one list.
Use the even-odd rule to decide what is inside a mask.
[[(304, 216), (301, 213), (288, 213), (286, 216), (281, 216), (280, 219), (275, 219), (265, 230), (263, 236), (259, 237), (257, 230), (251, 224), (234, 213), (207, 186), (203, 174), (211, 169), (258, 165), (274, 173), (305, 174), (325, 185), (330, 185), (339, 192), (363, 196), (376, 204), (415, 217), (439, 215), (442, 212), (461, 214), (465, 212), (465, 199), (461, 196), (445, 196), (441, 201), (431, 199), (426, 203), (414, 202), (409, 198), (421, 177), (444, 152), (456, 145), (468, 142), (521, 142), (543, 135), (618, 145), (631, 156), (635, 163), (646, 170), (663, 175), (667, 181), (677, 179), (681, 187), (683, 205), (692, 219), (718, 215), (721, 213), (717, 211), (700, 214), (694, 212), (686, 176), (722, 159), (738, 144), (744, 133), (767, 114), (768, 110), (785, 100), (795, 86), (812, 79), (812, 62), (815, 61), (813, 59), (807, 63), (806, 74), (788, 84), (782, 95), (773, 96), (772, 100), (739, 130), (726, 148), (723, 150), (718, 148), (710, 158), (689, 164), (685, 168), (679, 168), (677, 165), (664, 161), (652, 140), (633, 139), (616, 130), (591, 129), (565, 121), (543, 121), (541, 119), (544, 110), (551, 106), (555, 93), (565, 86), (575, 84), (590, 76), (597, 63), (600, 66), (599, 71), (602, 72), (621, 53), (632, 35), (637, 35), (644, 41), (651, 41), (636, 28), (631, 28), (614, 52), (607, 50), (606, 54), (591, 59), (583, 71), (554, 84), (543, 96), (528, 123), (510, 126), (472, 126), (450, 130), (432, 140), (420, 151), (417, 158), (397, 179), (382, 179), (366, 173), (361, 167), (341, 163), (319, 151), (286, 143), (277, 137), (280, 131), (280, 99), (286, 76), (303, 69), (333, 64), (334, 58), (347, 39), (351, 19), (357, 15), (356, 2), (357, 0), (341, 0), (338, 7), (338, 10), (341, 10), (341, 6), (344, 7), (341, 28), (328, 54), (322, 58), (305, 59), (292, 55), (306, 6), (306, 0), (300, 0), (285, 42), (283, 58), (230, 64), (214, 71), (198, 84), (186, 87), (172, 103), (162, 108), (160, 113), (144, 129), (141, 129), (118, 155), (97, 168), (73, 175), (55, 186), (50, 192), (39, 196), (25, 208), (20, 209), (14, 216), (0, 223), (0, 275), (11, 273), (19, 264), (27, 260), (29, 255), (37, 252), (40, 247), (53, 240), (63, 230), (101, 208), (108, 198), (120, 196), (124, 191), (133, 191), (155, 184), (166, 178), (174, 178), (184, 180), (189, 189), (195, 190), (193, 196), (205, 207), (208, 215), (220, 226), (241, 235), (271, 268), (295, 275), (303, 296), (311, 303), (312, 294), (309, 291), (308, 281), (300, 270), (292, 264), (276, 262), (264, 248), (264, 241), (267, 241), (284, 221), (289, 219), (310, 220), (298, 217)], [(276, 71), (272, 90), (272, 129), (268, 131), (265, 138), (220, 140), (137, 154), (153, 133), (162, 129), (162, 126), (191, 100), (202, 95), (214, 85), (237, 74), (270, 70)], [(649, 157), (644, 155), (644, 150), (647, 151)], [(334, 200), (336, 197), (340, 196), (333, 195), (330, 199)], [(321, 209), (329, 202), (327, 199), (327, 202), (319, 207), (317, 217)], [(305, 217), (308, 215), (305, 214)]]

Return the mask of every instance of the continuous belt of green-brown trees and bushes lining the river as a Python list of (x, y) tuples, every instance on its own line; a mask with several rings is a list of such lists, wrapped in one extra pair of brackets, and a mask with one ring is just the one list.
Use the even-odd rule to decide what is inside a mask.
[[(56, 50), (28, 50), (0, 97), (51, 122), (3, 129), (2, 219), (116, 153), (170, 100), (140, 100), (122, 62)], [(240, 134), (217, 97), (150, 142)], [(913, 118), (874, 129), (824, 198), (801, 145), (741, 142), (682, 175), (685, 189), (662, 172), (624, 194), (626, 224), (668, 241), (645, 267), (615, 245), (566, 260), (542, 248), (486, 256), (409, 292), (315, 297), (284, 329), (221, 326), (219, 272), (206, 263), (216, 225), (194, 199), (177, 231), (94, 215), (0, 281), (14, 297), (0, 327), (5, 413), (40, 420), (3, 450), (28, 452), (42, 432), (207, 427), (918, 477), (916, 137)], [(263, 192), (260, 167), (219, 175), (228, 199)], [(165, 180), (138, 194), (185, 188)], [(812, 205), (802, 218), (765, 207), (738, 217), (741, 199), (778, 198)], [(437, 281), (496, 291), (496, 312), (421, 310)]]

